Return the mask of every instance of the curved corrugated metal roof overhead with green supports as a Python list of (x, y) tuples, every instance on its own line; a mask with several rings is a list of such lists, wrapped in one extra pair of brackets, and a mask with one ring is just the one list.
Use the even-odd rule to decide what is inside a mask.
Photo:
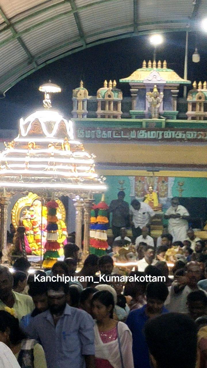
[[(27, 73), (41, 68), (45, 61), (52, 62), (87, 44), (142, 31), (192, 27), (190, 18), (196, 1), (74, 0), (72, 8), (70, 2), (0, 0), (2, 93)], [(207, 0), (201, 0), (196, 17), (205, 14), (207, 17)]]

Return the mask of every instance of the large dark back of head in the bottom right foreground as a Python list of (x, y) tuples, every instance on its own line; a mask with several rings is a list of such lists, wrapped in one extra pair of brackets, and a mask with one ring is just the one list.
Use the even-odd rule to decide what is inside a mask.
[(145, 338), (158, 368), (194, 368), (196, 365), (197, 330), (189, 316), (161, 314), (145, 325)]

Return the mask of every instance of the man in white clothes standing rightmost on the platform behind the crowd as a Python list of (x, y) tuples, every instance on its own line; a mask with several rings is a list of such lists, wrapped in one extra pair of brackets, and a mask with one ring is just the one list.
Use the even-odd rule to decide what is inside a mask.
[(171, 206), (166, 210), (164, 219), (169, 219), (168, 230), (173, 236), (173, 242), (186, 239), (190, 215), (188, 210), (180, 205), (178, 197), (172, 198)]

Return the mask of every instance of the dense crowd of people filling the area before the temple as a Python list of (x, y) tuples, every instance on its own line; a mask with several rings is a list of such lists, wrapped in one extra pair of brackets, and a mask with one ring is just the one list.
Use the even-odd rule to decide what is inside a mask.
[[(149, 226), (154, 211), (137, 199), (126, 203), (119, 192), (110, 204), (114, 242), (108, 254), (88, 255), (78, 271), (74, 243), (65, 245), (64, 261), (51, 270), (28, 273), (23, 257), (13, 272), (0, 265), (1, 368), (207, 367), (207, 242), (188, 228), (189, 213), (177, 198), (157, 241)], [(134, 281), (120, 277), (112, 258), (114, 247), (131, 243)], [(181, 257), (169, 265), (165, 255), (172, 247)], [(57, 275), (71, 279), (35, 281)], [(144, 281), (136, 281), (141, 276)]]

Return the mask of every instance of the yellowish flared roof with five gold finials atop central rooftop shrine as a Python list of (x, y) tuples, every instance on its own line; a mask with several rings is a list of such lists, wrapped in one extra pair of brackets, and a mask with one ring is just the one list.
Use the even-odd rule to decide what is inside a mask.
[[(125, 83), (144, 83), (146, 81), (154, 80), (161, 81), (164, 84), (191, 84), (187, 79), (180, 78), (179, 75), (172, 69), (167, 68), (166, 60), (161, 64), (161, 61), (143, 61), (143, 66), (140, 69), (134, 71), (129, 77), (119, 79), (119, 82)], [(155, 81), (156, 81), (155, 80)]]

